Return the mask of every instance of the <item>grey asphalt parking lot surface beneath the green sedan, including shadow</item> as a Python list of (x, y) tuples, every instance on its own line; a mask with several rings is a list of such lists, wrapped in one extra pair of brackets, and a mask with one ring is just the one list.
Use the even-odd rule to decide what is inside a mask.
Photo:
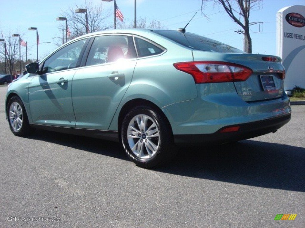
[(172, 163), (148, 170), (118, 143), (38, 130), (14, 136), (5, 92), (0, 227), (304, 227), (305, 105), (292, 106), (274, 134), (181, 148)]

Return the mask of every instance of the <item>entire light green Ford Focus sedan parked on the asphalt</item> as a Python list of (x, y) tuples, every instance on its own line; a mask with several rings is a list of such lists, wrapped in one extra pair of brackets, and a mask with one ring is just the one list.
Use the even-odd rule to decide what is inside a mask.
[(176, 145), (274, 133), (291, 115), (279, 57), (185, 31), (87, 34), (27, 72), (6, 95), (13, 134), (40, 128), (119, 141), (146, 168), (172, 159)]

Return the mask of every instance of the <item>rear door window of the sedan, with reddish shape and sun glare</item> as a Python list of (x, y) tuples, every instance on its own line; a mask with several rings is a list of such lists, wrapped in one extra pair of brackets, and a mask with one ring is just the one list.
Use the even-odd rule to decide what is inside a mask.
[(131, 36), (97, 36), (90, 48), (86, 66), (111, 63), (119, 59), (131, 59), (135, 57), (135, 47)]

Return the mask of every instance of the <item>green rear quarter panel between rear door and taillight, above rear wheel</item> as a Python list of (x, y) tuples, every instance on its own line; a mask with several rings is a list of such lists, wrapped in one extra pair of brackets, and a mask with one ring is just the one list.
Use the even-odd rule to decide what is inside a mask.
[(159, 44), (163, 44), (162, 46), (167, 49), (163, 54), (138, 58), (131, 84), (109, 130), (118, 130), (120, 110), (133, 99), (145, 99), (162, 109), (164, 106), (197, 97), (193, 77), (178, 71), (173, 65), (176, 62), (192, 61), (192, 50), (176, 44), (166, 45), (166, 42)]

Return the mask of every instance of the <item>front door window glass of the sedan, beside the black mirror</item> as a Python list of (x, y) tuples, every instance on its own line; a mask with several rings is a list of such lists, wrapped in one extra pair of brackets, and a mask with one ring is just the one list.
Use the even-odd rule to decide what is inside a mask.
[(48, 73), (75, 68), (85, 42), (86, 39), (78, 40), (58, 50), (45, 60), (43, 71)]

